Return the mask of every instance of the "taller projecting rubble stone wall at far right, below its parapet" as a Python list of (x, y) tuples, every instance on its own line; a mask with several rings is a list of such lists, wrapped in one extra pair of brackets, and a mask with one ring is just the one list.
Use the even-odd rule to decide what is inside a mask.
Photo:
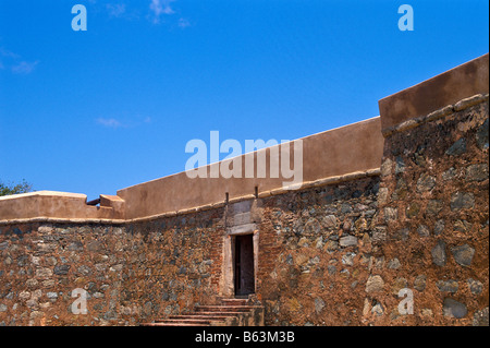
[[(387, 134), (375, 253), (384, 266), (371, 277), (380, 291), (366, 288), (366, 322), (470, 325), (486, 313), (488, 325), (488, 106), (477, 95)], [(414, 290), (414, 315), (397, 313), (403, 287)]]

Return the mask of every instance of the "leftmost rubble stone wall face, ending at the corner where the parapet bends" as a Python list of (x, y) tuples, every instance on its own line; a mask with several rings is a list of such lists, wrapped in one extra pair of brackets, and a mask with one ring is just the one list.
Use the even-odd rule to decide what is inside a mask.
[[(114, 315), (125, 250), (145, 248), (119, 226), (2, 226), (0, 323), (2, 325), (123, 324)], [(75, 315), (72, 291), (88, 292), (89, 315)]]

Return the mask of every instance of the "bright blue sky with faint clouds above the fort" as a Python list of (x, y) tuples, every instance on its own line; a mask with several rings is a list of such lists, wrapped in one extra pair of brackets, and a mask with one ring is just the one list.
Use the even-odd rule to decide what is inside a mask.
[[(74, 32), (73, 5), (87, 9)], [(414, 31), (401, 32), (401, 4)], [(294, 140), (489, 51), (486, 0), (0, 0), (0, 180), (115, 194), (192, 139)], [(223, 154), (225, 156), (225, 154)]]

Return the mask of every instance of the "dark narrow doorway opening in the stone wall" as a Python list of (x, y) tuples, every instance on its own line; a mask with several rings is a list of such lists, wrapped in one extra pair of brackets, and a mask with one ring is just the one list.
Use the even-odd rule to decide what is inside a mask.
[(253, 235), (235, 237), (235, 295), (255, 292)]

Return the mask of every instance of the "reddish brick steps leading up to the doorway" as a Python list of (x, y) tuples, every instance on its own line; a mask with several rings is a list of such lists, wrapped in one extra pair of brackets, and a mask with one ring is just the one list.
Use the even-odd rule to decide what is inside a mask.
[(248, 299), (221, 299), (217, 305), (195, 305), (187, 314), (170, 315), (142, 326), (264, 326), (264, 307)]

